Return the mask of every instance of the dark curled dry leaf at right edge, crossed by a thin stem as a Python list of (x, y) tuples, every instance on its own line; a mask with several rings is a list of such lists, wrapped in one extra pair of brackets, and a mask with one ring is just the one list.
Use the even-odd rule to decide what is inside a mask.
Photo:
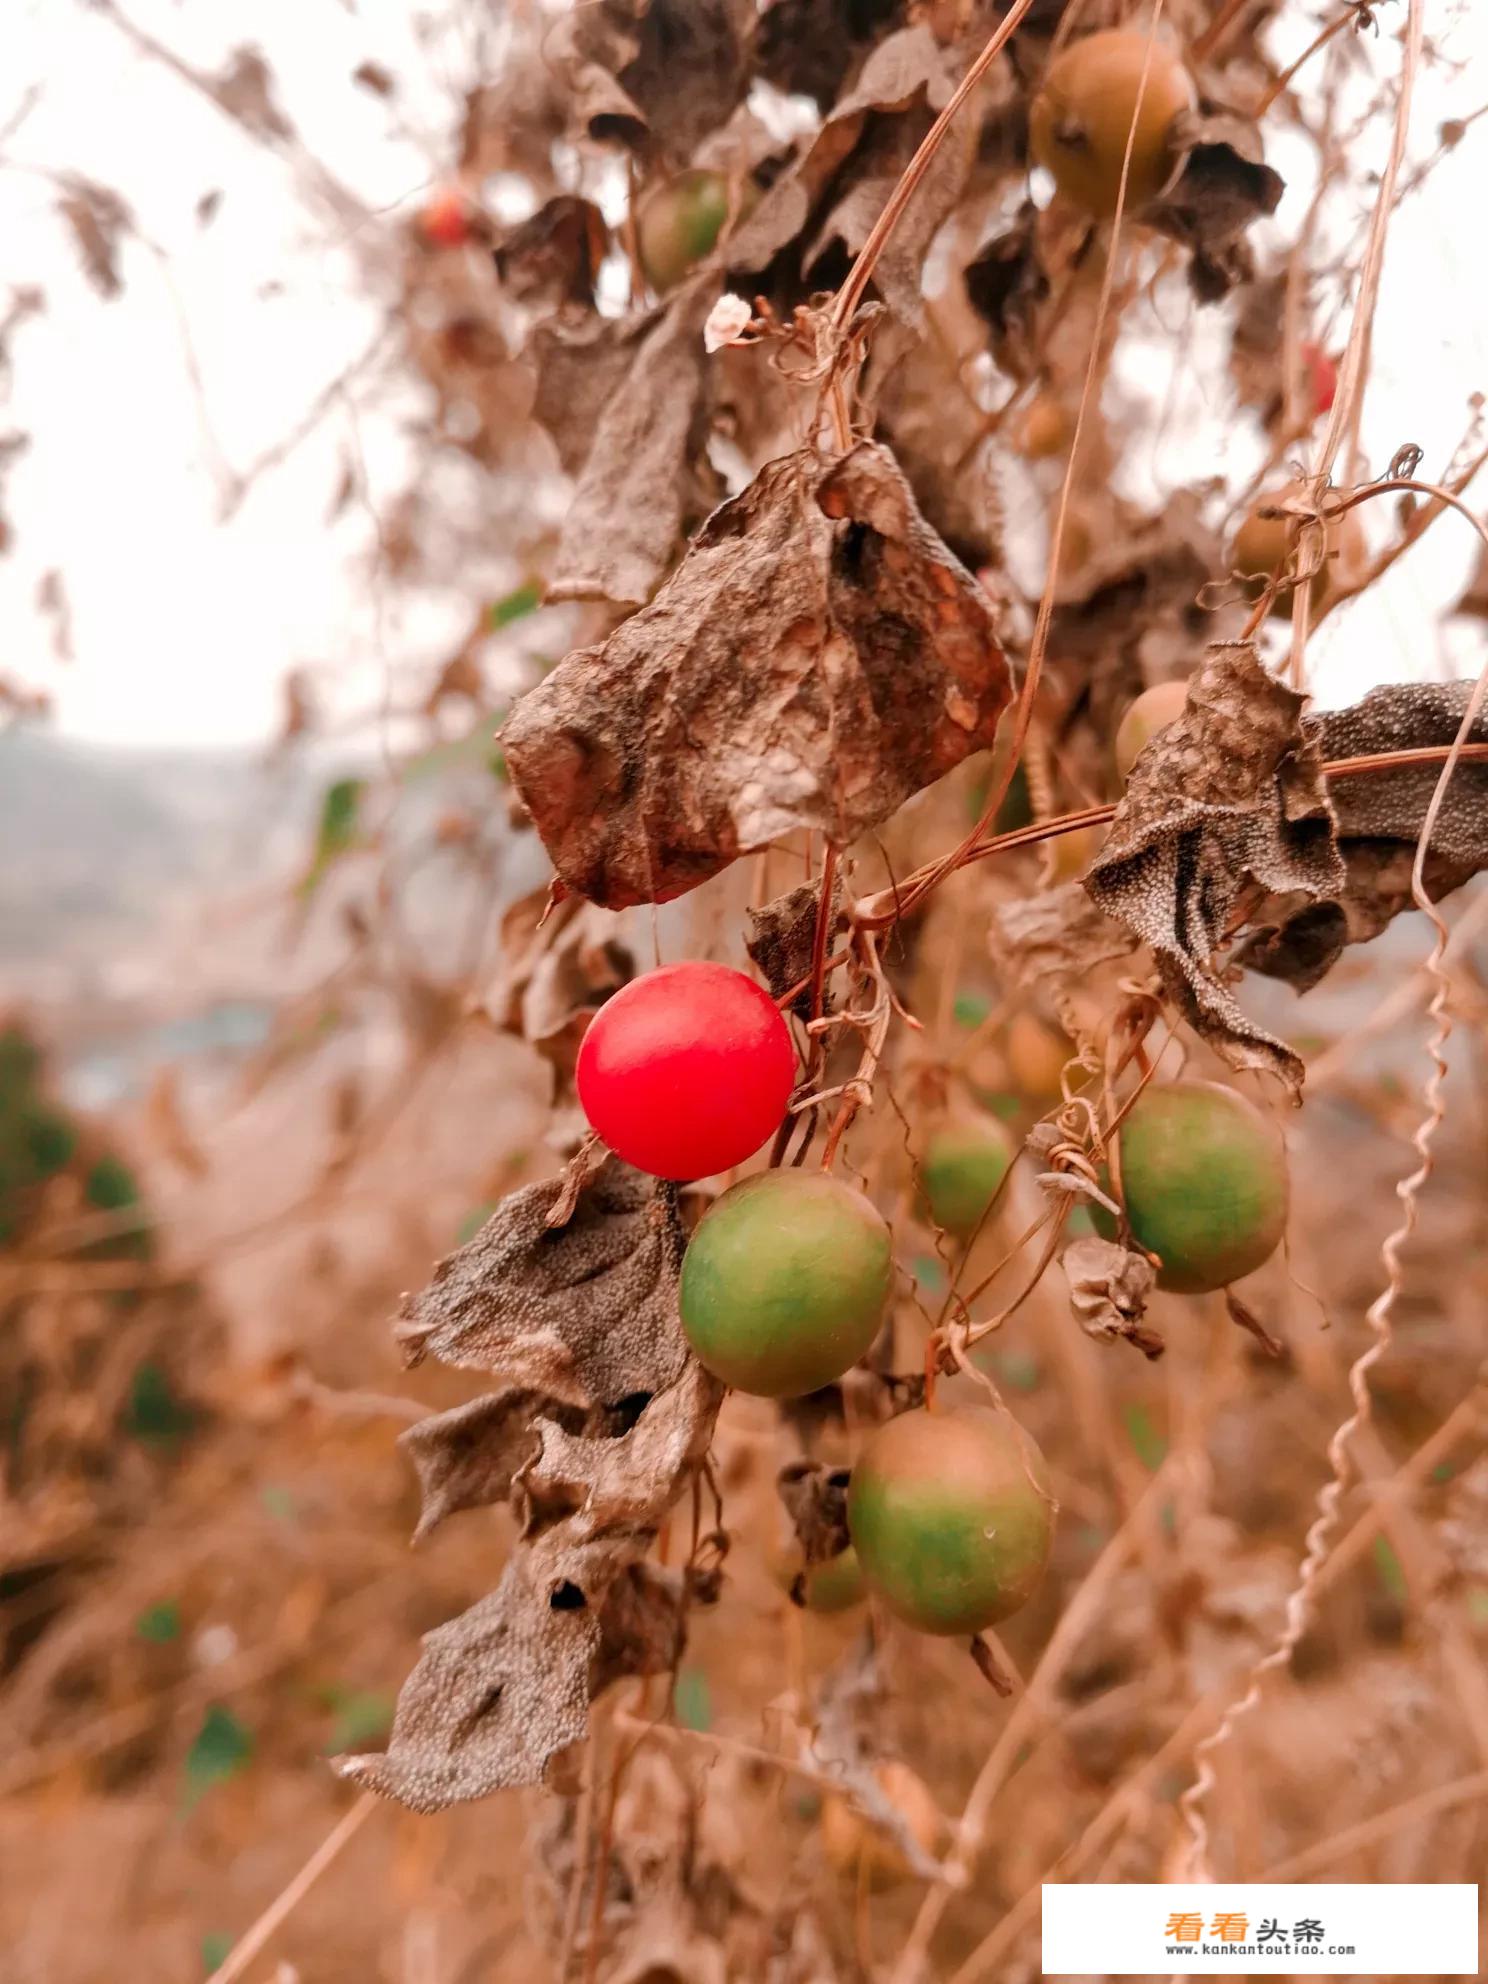
[[(1347, 710), (1303, 718), (1303, 732), (1327, 762), (1371, 752), (1446, 746), (1466, 712), (1472, 682), (1395, 682), (1371, 690)], [(1488, 742), (1478, 720), (1470, 742)], [(1329, 780), (1343, 883), (1327, 901), (1278, 891), (1250, 915), (1242, 964), (1284, 978), (1305, 992), (1347, 944), (1367, 942), (1413, 909), (1411, 869), (1438, 764), (1407, 766)], [(1488, 867), (1488, 766), (1466, 762), (1452, 772), (1425, 861), (1432, 901), (1460, 889)]]

